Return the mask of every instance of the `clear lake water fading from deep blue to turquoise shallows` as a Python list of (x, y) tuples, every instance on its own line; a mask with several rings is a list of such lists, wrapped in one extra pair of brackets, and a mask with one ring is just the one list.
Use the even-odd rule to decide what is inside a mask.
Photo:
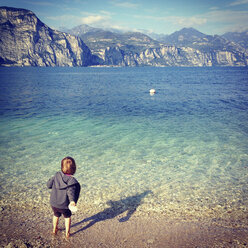
[(2, 197), (48, 195), (70, 155), (85, 206), (151, 191), (143, 211), (246, 208), (247, 68), (0, 68), (0, 77)]

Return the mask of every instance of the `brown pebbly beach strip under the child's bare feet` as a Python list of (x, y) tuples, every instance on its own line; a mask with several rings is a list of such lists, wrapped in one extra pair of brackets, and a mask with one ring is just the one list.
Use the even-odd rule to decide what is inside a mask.
[(64, 220), (52, 231), (52, 212), (47, 203), (2, 201), (1, 247), (248, 247), (248, 216), (245, 219), (190, 220), (158, 213), (103, 209), (85, 210), (72, 216), (71, 237), (65, 239)]

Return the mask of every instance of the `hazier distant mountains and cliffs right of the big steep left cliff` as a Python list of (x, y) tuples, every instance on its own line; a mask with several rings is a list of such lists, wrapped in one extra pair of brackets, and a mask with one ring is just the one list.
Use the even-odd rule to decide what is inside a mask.
[[(158, 42), (141, 33), (113, 33), (80, 26), (68, 32), (78, 35), (102, 65), (119, 66), (247, 66), (244, 47), (218, 36), (184, 29), (173, 35), (178, 46)], [(186, 32), (186, 33), (185, 33)], [(192, 42), (192, 37), (194, 37)], [(185, 43), (185, 40), (187, 43)], [(184, 43), (182, 43), (184, 42)], [(188, 44), (186, 46), (185, 44)], [(192, 45), (193, 44), (193, 45)]]

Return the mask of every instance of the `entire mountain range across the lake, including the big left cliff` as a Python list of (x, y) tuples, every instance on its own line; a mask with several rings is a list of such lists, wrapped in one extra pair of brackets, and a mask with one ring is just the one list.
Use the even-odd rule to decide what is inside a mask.
[(247, 50), (221, 36), (182, 29), (157, 41), (140, 32), (81, 25), (60, 32), (33, 12), (0, 7), (1, 66), (247, 66)]

